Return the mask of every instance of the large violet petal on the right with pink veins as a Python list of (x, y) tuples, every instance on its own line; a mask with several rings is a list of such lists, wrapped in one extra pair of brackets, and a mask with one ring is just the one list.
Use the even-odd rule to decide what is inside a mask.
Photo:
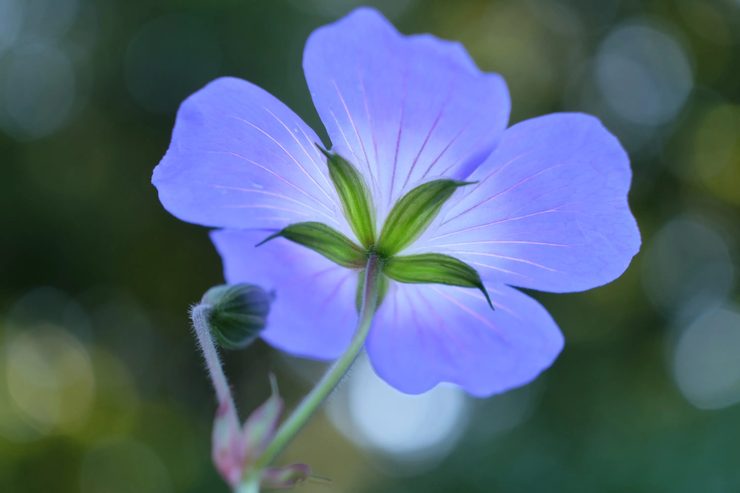
[[(491, 157), (407, 253), (456, 256), (482, 279), (565, 293), (619, 277), (639, 251), (616, 137), (590, 115), (557, 113), (506, 130)], [(442, 214), (440, 214), (442, 215)]]

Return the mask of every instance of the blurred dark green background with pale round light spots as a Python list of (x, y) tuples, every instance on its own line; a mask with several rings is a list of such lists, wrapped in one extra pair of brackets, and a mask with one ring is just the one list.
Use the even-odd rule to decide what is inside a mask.
[[(418, 398), (360, 363), (281, 463), (306, 492), (739, 492), (740, 1), (368, 1), (462, 41), (508, 81), (511, 122), (598, 115), (625, 144), (644, 244), (616, 282), (534, 293), (565, 350), (533, 384)], [(222, 282), (206, 229), (150, 185), (178, 103), (219, 75), (326, 137), (307, 35), (351, 0), (0, 0), (0, 491), (226, 492), (186, 310)], [(228, 353), (242, 414), (277, 373)]]

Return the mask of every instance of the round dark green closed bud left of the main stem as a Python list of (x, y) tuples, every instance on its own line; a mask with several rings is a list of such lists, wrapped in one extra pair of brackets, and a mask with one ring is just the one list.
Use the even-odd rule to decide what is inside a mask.
[(218, 345), (243, 349), (265, 328), (275, 296), (249, 284), (220, 285), (206, 291), (201, 303), (211, 307), (208, 322)]

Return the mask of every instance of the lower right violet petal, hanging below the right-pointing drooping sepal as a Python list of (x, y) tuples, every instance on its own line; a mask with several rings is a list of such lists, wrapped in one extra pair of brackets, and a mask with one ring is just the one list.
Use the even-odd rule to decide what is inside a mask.
[(479, 397), (536, 378), (562, 350), (562, 334), (534, 299), (486, 288), (496, 311), (474, 289), (394, 282), (366, 344), (377, 374), (409, 394), (451, 382)]

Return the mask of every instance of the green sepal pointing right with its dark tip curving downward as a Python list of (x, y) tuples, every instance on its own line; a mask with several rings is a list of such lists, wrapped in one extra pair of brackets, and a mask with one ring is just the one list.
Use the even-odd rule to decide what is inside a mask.
[(383, 273), (397, 282), (408, 284), (446, 284), (480, 289), (488, 305), (494, 308), (478, 271), (470, 265), (443, 254), (394, 256), (383, 265)]

